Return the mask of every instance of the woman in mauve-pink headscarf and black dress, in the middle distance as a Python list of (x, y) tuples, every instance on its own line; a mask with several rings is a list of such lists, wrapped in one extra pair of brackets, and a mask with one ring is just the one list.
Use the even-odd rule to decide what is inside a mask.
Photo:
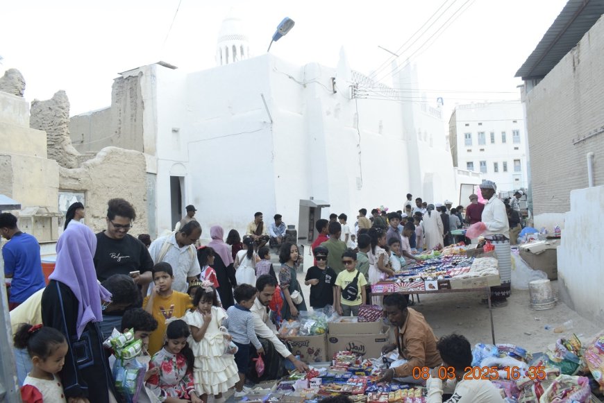
[(214, 249), (214, 270), (220, 286), (216, 291), (220, 295), (220, 301), (224, 309), (235, 305), (233, 299), (233, 287), (237, 286), (235, 279), (235, 269), (233, 268), (233, 257), (230, 250), (224, 243), (224, 230), (220, 225), (214, 225), (210, 228), (210, 237), (212, 241), (208, 243), (210, 248)]

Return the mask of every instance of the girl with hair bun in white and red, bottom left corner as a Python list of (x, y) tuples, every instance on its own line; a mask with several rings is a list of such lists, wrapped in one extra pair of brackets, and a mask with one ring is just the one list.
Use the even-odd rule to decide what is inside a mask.
[(21, 388), (24, 403), (65, 403), (57, 373), (63, 368), (68, 346), (65, 336), (53, 327), (24, 323), (15, 333), (15, 347), (27, 348), (32, 369)]

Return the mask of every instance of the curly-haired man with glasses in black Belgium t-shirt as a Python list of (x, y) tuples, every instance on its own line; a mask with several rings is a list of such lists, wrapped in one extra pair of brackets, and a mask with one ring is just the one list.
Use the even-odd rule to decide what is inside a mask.
[(94, 268), (103, 282), (114, 274), (133, 277), (139, 288), (151, 282), (153, 260), (144, 243), (128, 234), (136, 218), (134, 207), (123, 198), (107, 203), (107, 229), (97, 234)]

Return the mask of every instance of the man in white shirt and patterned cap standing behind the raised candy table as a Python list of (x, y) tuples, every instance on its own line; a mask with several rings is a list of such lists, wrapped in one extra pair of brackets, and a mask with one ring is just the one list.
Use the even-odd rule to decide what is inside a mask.
[(499, 277), (501, 286), (491, 287), (491, 299), (493, 307), (505, 307), (507, 297), (510, 296), (510, 284), (512, 281), (512, 260), (510, 252), (510, 225), (507, 222), (505, 205), (496, 196), (497, 185), (492, 180), (483, 180), (480, 184), (480, 192), (487, 200), (483, 209), (482, 221), (487, 230), (483, 233), (495, 246), (498, 260)]

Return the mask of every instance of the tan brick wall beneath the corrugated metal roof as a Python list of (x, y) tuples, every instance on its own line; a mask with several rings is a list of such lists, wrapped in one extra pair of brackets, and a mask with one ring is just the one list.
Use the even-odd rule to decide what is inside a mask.
[(526, 96), (533, 214), (570, 209), (570, 191), (587, 187), (593, 151), (595, 185), (604, 185), (604, 18), (600, 18)]

